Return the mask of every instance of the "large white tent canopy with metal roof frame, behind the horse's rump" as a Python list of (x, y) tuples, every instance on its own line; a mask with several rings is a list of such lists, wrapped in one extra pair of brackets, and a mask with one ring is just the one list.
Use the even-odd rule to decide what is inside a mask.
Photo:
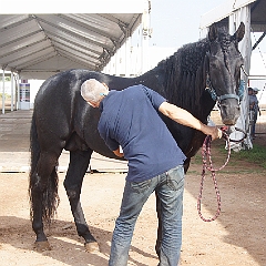
[(0, 68), (41, 80), (101, 71), (147, 10), (147, 0), (0, 0)]

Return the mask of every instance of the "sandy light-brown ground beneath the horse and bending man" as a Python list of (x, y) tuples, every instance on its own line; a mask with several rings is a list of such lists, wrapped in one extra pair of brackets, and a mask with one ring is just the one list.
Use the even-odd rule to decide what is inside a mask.
[[(85, 253), (76, 235), (68, 197), (63, 187), (64, 173), (60, 173), (61, 203), (50, 229), (45, 229), (52, 250), (33, 249), (34, 234), (29, 218), (28, 173), (29, 130), (31, 111), (0, 115), (0, 265), (1, 266), (104, 266), (108, 265), (110, 242), (119, 214), (125, 174), (96, 173), (85, 175), (81, 202), (91, 231), (100, 244), (100, 253)], [(265, 132), (263, 124), (259, 133)], [(256, 139), (263, 139), (259, 134)], [(222, 140), (221, 140), (222, 141)], [(215, 165), (224, 157), (212, 150)], [(68, 154), (62, 155), (66, 167)], [(106, 165), (106, 158), (93, 155), (95, 167)], [(104, 161), (103, 161), (104, 160)], [(222, 195), (222, 214), (213, 223), (204, 223), (197, 215), (201, 163), (194, 158), (186, 175), (183, 217), (182, 266), (266, 266), (266, 182), (265, 170), (250, 162), (231, 161), (217, 173)], [(103, 163), (104, 162), (104, 163)], [(117, 165), (110, 162), (112, 168)], [(24, 167), (21, 170), (21, 167)], [(93, 166), (94, 167), (94, 166)], [(110, 167), (111, 168), (111, 167)], [(62, 170), (63, 171), (63, 170)], [(1, 171), (0, 171), (1, 172)], [(212, 217), (216, 197), (212, 178), (204, 183), (202, 211)], [(154, 196), (145, 204), (137, 219), (129, 265), (156, 266)]]

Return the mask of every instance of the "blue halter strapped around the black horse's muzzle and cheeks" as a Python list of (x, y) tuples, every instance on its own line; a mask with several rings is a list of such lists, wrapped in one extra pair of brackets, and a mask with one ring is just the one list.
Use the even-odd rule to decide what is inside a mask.
[(245, 81), (241, 80), (239, 88), (238, 88), (238, 95), (234, 94), (234, 93), (229, 93), (229, 94), (223, 94), (221, 96), (217, 96), (217, 93), (212, 85), (209, 74), (207, 73), (205, 90), (208, 91), (208, 93), (211, 94), (212, 99), (215, 102), (217, 101), (218, 103), (221, 103), (225, 99), (236, 99), (238, 101), (238, 103), (241, 103), (241, 101), (243, 100), (243, 96), (244, 96), (244, 88), (245, 88)]

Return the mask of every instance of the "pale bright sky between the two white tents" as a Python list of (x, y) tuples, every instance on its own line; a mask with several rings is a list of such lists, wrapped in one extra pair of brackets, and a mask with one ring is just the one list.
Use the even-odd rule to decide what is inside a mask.
[(226, 0), (152, 0), (150, 45), (175, 47), (200, 38), (201, 16)]

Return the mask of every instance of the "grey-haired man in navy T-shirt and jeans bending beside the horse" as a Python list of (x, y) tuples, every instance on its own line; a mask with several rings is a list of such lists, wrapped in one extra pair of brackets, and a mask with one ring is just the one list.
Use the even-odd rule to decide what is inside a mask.
[(158, 112), (180, 124), (212, 135), (213, 140), (221, 137), (222, 132), (167, 103), (163, 96), (144, 85), (109, 91), (105, 84), (91, 79), (82, 84), (81, 95), (93, 108), (100, 108), (98, 130), (106, 145), (116, 156), (124, 156), (129, 161), (109, 265), (127, 265), (136, 218), (149, 196), (156, 191), (162, 204), (163, 226), (160, 266), (176, 266), (182, 244), (183, 163), (186, 156)]

